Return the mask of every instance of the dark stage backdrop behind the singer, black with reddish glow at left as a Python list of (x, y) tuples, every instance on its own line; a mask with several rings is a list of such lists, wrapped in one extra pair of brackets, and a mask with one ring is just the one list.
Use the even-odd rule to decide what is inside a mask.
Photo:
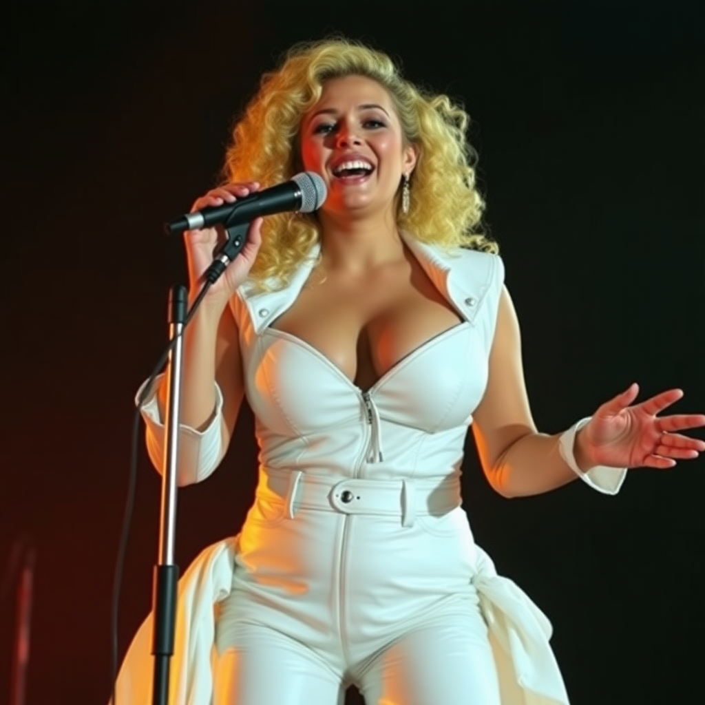
[[(465, 103), (541, 430), (632, 381), (705, 412), (702, 7), (6, 1), (0, 559), (23, 534), (36, 546), (27, 705), (108, 698), (133, 395), (183, 281), (161, 224), (212, 185), (233, 116), (295, 41), (366, 39)], [(551, 618), (572, 703), (704, 701), (705, 461), (634, 470), (615, 498), (575, 482), (506, 501), (468, 450), (477, 541)], [(141, 437), (139, 453), (121, 654), (157, 556)], [(182, 569), (238, 530), (255, 467), (245, 409), (223, 467), (179, 494)], [(13, 624), (6, 597), (0, 703)]]

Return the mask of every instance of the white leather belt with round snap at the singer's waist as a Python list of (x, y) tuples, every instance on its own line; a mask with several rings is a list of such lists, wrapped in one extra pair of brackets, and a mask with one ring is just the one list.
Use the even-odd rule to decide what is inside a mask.
[(460, 505), (460, 481), (374, 480), (347, 478), (332, 480), (300, 470), (260, 470), (257, 496), (286, 504), (287, 515), (298, 509), (337, 511), (401, 517), (402, 526), (414, 524), (416, 515), (441, 515)]

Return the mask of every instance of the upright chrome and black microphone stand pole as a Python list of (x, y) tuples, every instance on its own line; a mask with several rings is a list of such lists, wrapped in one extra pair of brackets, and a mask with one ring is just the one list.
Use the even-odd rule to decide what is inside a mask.
[[(178, 455), (178, 423), (183, 367), (183, 328), (186, 319), (187, 294), (184, 286), (169, 292), (169, 338), (173, 342), (166, 367), (166, 405), (164, 422), (164, 469), (161, 478), (161, 519), (159, 529), (159, 563), (154, 567), (154, 631), (152, 656), (154, 680), (152, 705), (168, 705), (169, 664), (176, 633), (176, 596), (178, 565), (174, 563), (176, 533), (176, 460)], [(176, 338), (176, 340), (175, 340)]]

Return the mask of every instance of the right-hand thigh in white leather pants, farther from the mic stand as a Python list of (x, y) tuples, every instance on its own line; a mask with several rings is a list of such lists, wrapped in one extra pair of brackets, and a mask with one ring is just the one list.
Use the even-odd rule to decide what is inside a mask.
[(360, 678), (366, 705), (500, 705), (479, 613), (443, 615), (374, 656)]

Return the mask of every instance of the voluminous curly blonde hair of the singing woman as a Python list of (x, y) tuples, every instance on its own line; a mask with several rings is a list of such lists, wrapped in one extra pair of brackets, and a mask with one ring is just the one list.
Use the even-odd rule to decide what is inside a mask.
[[(350, 39), (295, 44), (277, 71), (262, 76), (233, 130), (224, 179), (256, 180), (266, 187), (292, 178), (300, 166), (302, 117), (318, 102), (326, 80), (348, 75), (366, 76), (387, 90), (405, 144), (419, 151), (410, 209), (407, 214), (398, 209), (398, 226), (423, 243), (449, 250), (497, 252), (496, 243), (479, 230), (484, 202), (475, 188), (476, 154), (466, 138), (470, 117), (448, 96), (405, 80), (386, 54)], [(286, 284), (318, 239), (315, 214), (269, 216), (252, 277)]]

